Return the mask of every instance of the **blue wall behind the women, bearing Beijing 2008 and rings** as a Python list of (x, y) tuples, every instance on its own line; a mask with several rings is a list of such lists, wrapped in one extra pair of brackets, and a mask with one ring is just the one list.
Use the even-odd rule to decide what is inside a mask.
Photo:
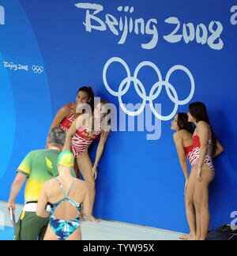
[[(96, 96), (117, 106), (118, 130), (119, 125), (125, 126), (125, 131), (111, 132), (107, 141), (96, 184), (95, 215), (188, 232), (184, 178), (170, 127), (177, 111), (187, 111), (188, 104), (198, 100), (207, 105), (225, 149), (215, 161), (216, 178), (210, 186), (210, 228), (230, 224), (231, 212), (237, 210), (237, 16), (232, 6), (234, 0), (0, 0), (0, 200), (7, 201), (24, 156), (44, 148), (58, 109), (75, 100), (77, 88), (91, 85)], [(107, 23), (106, 14), (110, 14)], [(91, 32), (86, 17), (93, 19)], [(144, 31), (140, 25), (136, 28), (137, 21), (144, 22)], [(172, 36), (176, 27), (179, 30)], [(132, 80), (128, 91), (121, 92), (122, 102), (142, 103), (143, 97), (147, 106), (139, 116), (152, 115), (159, 130), (147, 127), (141, 132), (135, 125), (131, 132), (124, 121), (119, 122), (119, 111), (126, 119), (129, 115), (119, 110), (118, 93), (115, 96), (113, 91), (119, 91), (126, 70), (118, 62), (108, 66), (106, 80), (113, 91), (103, 77), (104, 66), (115, 57), (127, 65)], [(134, 71), (141, 62), (146, 63), (138, 72), (141, 82), (136, 89)], [(163, 82), (148, 65), (160, 70)], [(176, 65), (186, 72), (176, 70), (166, 79)], [(163, 85), (151, 101), (161, 104), (161, 114), (167, 117), (161, 122), (149, 106), (153, 85)], [(148, 140), (149, 134), (156, 140)], [(90, 150), (92, 161), (97, 143)], [(23, 190), (17, 202), (24, 202)]]

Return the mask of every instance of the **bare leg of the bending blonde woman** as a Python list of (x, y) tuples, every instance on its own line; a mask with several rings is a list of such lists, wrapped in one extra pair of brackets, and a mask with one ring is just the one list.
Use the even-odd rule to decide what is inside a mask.
[[(94, 206), (94, 201), (96, 197), (96, 188), (95, 188), (95, 179), (92, 176), (92, 161), (90, 160), (88, 153), (85, 153), (83, 156), (77, 158), (77, 166), (81, 171), (81, 175), (85, 180), (86, 185), (88, 186), (88, 194), (91, 201), (91, 213)], [(99, 222), (94, 216), (87, 216), (88, 220)]]

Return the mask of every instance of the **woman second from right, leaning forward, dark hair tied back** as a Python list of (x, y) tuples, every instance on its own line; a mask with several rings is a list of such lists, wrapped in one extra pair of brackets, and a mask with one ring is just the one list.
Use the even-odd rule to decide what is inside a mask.
[[(188, 122), (188, 116), (186, 113), (178, 113), (175, 115), (175, 119), (171, 122), (171, 130), (175, 130), (173, 135), (177, 153), (179, 156), (179, 163), (182, 171), (185, 175), (185, 205), (186, 205), (186, 216), (188, 224), (190, 226), (190, 234), (196, 234), (195, 219), (194, 216), (194, 184), (190, 183), (190, 175), (186, 159), (190, 161), (190, 152), (192, 152), (193, 145), (193, 133), (194, 127), (191, 122)], [(191, 214), (190, 214), (191, 213)], [(191, 218), (189, 218), (191, 216)], [(188, 239), (190, 235), (183, 235), (180, 239)]]

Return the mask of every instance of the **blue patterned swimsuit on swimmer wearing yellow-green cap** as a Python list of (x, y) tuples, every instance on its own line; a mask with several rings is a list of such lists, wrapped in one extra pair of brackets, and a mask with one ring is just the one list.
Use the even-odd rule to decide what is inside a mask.
[[(55, 179), (57, 179), (57, 178), (55, 178)], [(76, 179), (73, 179), (73, 183), (75, 182), (75, 180)], [(58, 201), (55, 204), (51, 204), (52, 212), (51, 212), (51, 217), (50, 217), (50, 225), (51, 225), (51, 228), (52, 228), (53, 232), (55, 232), (55, 235), (58, 237), (59, 240), (66, 240), (70, 237), (70, 235), (73, 234), (73, 232), (75, 232), (77, 230), (77, 228), (80, 227), (81, 204), (79, 204), (79, 203), (77, 203), (77, 202), (75, 202), (75, 201), (73, 201), (69, 198), (70, 190), (73, 187), (73, 183), (70, 186), (70, 190), (69, 190), (68, 195), (66, 196), (66, 193), (63, 190), (62, 184), (60, 183), (60, 181), (58, 179), (57, 179), (57, 181), (58, 181), (59, 185), (62, 188), (62, 192), (63, 192), (65, 198), (62, 199), (61, 201)], [(64, 201), (69, 201), (73, 206), (75, 206), (77, 208), (78, 213), (77, 213), (77, 217), (74, 220), (58, 220), (55, 217), (56, 207), (58, 205), (61, 205), (62, 202), (64, 202)]]

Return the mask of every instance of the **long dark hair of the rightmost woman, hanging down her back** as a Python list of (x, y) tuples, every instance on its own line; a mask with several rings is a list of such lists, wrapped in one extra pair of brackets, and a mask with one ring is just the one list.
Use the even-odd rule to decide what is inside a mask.
[(205, 104), (202, 102), (194, 102), (189, 105), (190, 114), (196, 119), (196, 122), (204, 121), (207, 122), (212, 131), (212, 139), (213, 139), (213, 155), (216, 153), (216, 134), (214, 134), (213, 127), (209, 122), (209, 116), (207, 114), (207, 110)]

